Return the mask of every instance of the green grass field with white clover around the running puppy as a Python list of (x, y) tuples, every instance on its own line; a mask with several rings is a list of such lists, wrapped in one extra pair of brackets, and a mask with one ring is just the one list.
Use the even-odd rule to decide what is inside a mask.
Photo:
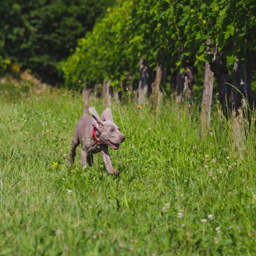
[[(255, 128), (233, 147), (212, 111), (113, 104), (126, 140), (86, 171), (67, 168), (81, 95), (48, 90), (0, 98), (0, 255), (255, 255)], [(91, 97), (90, 106), (104, 110)], [(80, 150), (80, 147), (78, 147)], [(78, 151), (78, 150), (77, 150)]]

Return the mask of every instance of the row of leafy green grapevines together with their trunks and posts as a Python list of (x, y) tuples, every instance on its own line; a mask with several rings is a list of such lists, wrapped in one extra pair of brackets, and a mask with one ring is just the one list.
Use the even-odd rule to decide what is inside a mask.
[[(175, 100), (180, 105), (184, 101), (192, 102), (194, 74), (197, 67), (206, 63), (208, 73), (213, 71), (217, 78), (220, 102), (227, 116), (234, 92), (228, 83), (236, 59), (249, 70), (247, 83), (252, 79), (253, 63), (256, 63), (253, 31), (256, 31), (255, 0), (126, 1), (109, 9), (93, 32), (79, 41), (63, 66), (66, 84), (79, 89), (79, 80), (90, 86), (111, 80), (112, 87), (121, 91), (126, 87), (132, 91), (133, 84), (136, 91), (138, 87), (139, 102), (142, 102), (143, 79), (148, 78), (145, 88), (148, 94), (152, 93), (155, 103), (173, 85)], [(205, 54), (207, 39), (217, 49), (214, 61), (213, 53)], [(241, 51), (241, 45), (246, 54)], [(144, 74), (141, 71), (145, 66)], [(166, 74), (171, 74), (171, 81), (167, 81)], [(212, 77), (210, 81), (212, 88)], [(248, 85), (246, 93), (250, 92)], [(203, 106), (209, 106), (210, 113), (211, 93), (207, 98)], [(209, 120), (209, 115), (206, 119)]]

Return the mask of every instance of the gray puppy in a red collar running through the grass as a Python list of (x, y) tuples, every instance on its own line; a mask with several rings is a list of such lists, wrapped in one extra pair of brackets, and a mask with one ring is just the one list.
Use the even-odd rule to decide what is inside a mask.
[[(106, 108), (102, 112), (101, 118), (95, 108), (89, 108), (90, 93), (91, 89), (89, 89), (85, 96), (83, 116), (78, 120), (74, 128), (67, 166), (70, 167), (74, 162), (76, 147), (81, 144), (81, 164), (83, 169), (87, 167), (87, 163), (91, 166), (93, 154), (100, 152), (108, 173), (119, 174), (119, 171), (115, 170), (112, 166), (108, 146), (117, 150), (120, 147), (119, 143), (124, 142), (125, 137), (121, 134), (120, 128), (114, 123), (110, 108)], [(88, 115), (88, 110), (93, 114), (93, 117)]]

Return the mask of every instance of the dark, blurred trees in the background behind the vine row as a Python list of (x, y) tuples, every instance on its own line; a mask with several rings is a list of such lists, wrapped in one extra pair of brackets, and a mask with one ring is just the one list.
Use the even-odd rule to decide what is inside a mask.
[(1, 1), (0, 56), (56, 82), (61, 61), (114, 0)]

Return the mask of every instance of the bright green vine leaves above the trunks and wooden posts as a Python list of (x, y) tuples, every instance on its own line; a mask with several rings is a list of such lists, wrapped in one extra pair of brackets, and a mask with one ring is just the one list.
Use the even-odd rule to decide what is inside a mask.
[(79, 80), (93, 86), (104, 78), (137, 78), (141, 57), (152, 71), (159, 58), (172, 71), (184, 71), (186, 62), (200, 66), (207, 39), (227, 49), (228, 65), (237, 56), (246, 61), (247, 52), (255, 58), (255, 8), (255, 0), (126, 1), (79, 41), (63, 66), (66, 85), (78, 89)]

